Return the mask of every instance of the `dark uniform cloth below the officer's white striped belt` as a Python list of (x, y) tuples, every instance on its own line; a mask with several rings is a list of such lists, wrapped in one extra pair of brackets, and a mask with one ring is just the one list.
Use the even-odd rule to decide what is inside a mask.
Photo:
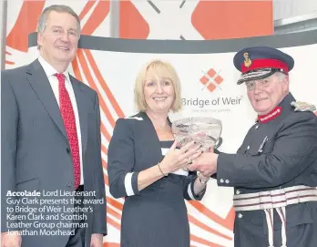
[[(239, 216), (242, 214), (242, 217)], [(264, 211), (237, 212), (234, 247), (267, 247), (269, 236)], [(274, 211), (274, 247), (281, 246), (281, 219)], [(317, 246), (317, 203), (308, 201), (286, 208), (287, 247)]]

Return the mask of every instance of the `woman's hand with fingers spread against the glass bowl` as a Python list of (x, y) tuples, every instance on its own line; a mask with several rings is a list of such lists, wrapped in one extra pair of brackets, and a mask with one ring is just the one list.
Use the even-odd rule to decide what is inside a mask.
[(170, 147), (168, 154), (160, 162), (160, 169), (164, 174), (169, 174), (175, 170), (184, 168), (192, 163), (192, 160), (199, 158), (202, 153), (201, 145), (194, 141), (189, 142), (181, 149), (176, 149), (177, 142), (175, 141)]

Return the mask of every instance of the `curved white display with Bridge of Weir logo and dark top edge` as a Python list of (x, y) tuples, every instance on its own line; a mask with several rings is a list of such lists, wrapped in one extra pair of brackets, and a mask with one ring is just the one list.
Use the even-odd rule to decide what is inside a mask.
[[(184, 109), (171, 120), (206, 116), (223, 123), (221, 151), (235, 152), (256, 115), (246, 95), (245, 85), (236, 81), (240, 72), (233, 67), (236, 51), (245, 46), (280, 47), (295, 59), (290, 73), (291, 92), (297, 100), (317, 105), (317, 31), (282, 36), (262, 36), (219, 41), (148, 41), (82, 36), (72, 73), (97, 90), (101, 109), (102, 158), (107, 188), (105, 246), (119, 246), (123, 199), (109, 193), (107, 147), (118, 118), (136, 112), (134, 81), (138, 70), (149, 60), (169, 61), (179, 73)], [(36, 34), (29, 36), (29, 61), (37, 57)], [(210, 180), (202, 201), (187, 201), (191, 246), (233, 246), (232, 192)], [(243, 217), (240, 219), (243, 221)]]

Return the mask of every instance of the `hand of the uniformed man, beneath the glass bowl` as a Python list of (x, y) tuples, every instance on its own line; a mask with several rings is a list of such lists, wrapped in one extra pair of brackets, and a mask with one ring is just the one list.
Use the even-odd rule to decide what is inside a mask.
[(218, 154), (205, 152), (192, 161), (189, 170), (199, 170), (204, 177), (210, 177), (217, 172)]

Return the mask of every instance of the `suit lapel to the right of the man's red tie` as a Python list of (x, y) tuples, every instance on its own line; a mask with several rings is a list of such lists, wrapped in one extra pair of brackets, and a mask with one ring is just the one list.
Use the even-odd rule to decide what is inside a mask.
[(77, 81), (75, 77), (69, 76), (70, 81), (72, 82), (72, 86), (75, 93), (75, 98), (77, 102), (78, 115), (79, 115), (79, 123), (80, 123), (80, 132), (81, 132), (81, 143), (82, 143), (82, 153), (83, 157), (85, 155), (85, 151), (87, 149), (87, 97), (85, 92), (82, 90), (81, 83)]

